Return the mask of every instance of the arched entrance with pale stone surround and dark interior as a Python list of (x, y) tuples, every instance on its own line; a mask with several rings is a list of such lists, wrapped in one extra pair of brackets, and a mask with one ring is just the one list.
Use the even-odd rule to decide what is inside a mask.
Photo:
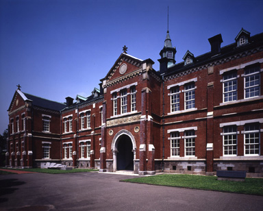
[(134, 136), (126, 129), (119, 131), (112, 140), (113, 171), (134, 171), (136, 142)]

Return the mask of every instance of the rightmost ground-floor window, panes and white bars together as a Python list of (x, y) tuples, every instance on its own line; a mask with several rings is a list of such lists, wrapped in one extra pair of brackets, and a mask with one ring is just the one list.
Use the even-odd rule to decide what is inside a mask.
[(260, 155), (260, 127), (258, 124), (245, 125), (245, 155)]

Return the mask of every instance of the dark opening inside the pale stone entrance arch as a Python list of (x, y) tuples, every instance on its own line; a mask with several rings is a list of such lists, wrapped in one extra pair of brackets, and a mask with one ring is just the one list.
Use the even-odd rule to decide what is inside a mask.
[(129, 136), (119, 137), (117, 153), (117, 170), (134, 171), (134, 153), (132, 151), (132, 140)]

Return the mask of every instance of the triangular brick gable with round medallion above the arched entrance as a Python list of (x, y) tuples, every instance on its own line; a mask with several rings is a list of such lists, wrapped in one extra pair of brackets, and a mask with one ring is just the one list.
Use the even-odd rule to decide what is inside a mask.
[(142, 60), (128, 55), (127, 53), (121, 53), (116, 60), (106, 77), (102, 80), (109, 82), (110, 80), (122, 77), (133, 71), (140, 69), (142, 66)]

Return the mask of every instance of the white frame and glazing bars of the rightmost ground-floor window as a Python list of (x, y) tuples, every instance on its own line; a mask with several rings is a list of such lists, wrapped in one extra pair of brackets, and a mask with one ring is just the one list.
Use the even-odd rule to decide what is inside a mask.
[[(251, 127), (251, 126), (254, 127), (254, 129), (247, 130), (247, 127)], [(258, 129), (256, 127), (258, 127)], [(258, 138), (256, 137), (256, 134), (258, 135)], [(249, 140), (249, 142), (247, 142), (247, 139)], [(251, 142), (251, 140), (253, 140), (253, 142)], [(255, 140), (258, 140), (258, 143), (255, 143)], [(251, 148), (251, 146), (254, 146), (254, 147)], [(255, 148), (256, 146), (258, 147)], [(246, 148), (248, 148), (249, 153), (247, 153)], [(258, 150), (258, 153), (255, 153), (255, 150)], [(254, 151), (254, 153), (250, 153), (250, 151)], [(260, 125), (258, 123), (250, 123), (250, 124), (245, 125), (244, 155), (245, 156), (260, 156)]]

